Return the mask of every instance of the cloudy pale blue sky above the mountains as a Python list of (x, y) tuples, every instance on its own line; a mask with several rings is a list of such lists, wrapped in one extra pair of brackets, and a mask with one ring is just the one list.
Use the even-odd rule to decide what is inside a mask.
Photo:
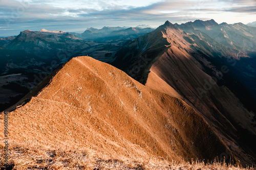
[(158, 27), (166, 20), (247, 24), (255, 18), (256, 0), (0, 0), (0, 37), (28, 29), (81, 33), (90, 27)]

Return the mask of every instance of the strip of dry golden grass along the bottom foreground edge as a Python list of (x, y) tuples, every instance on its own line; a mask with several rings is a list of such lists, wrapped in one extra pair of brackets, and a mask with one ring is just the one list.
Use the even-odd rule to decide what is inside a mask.
[(0, 167), (1, 169), (172, 169), (172, 170), (255, 170), (255, 167), (241, 167), (227, 165), (226, 163), (214, 162), (212, 164), (192, 161), (176, 162), (166, 161), (160, 158), (150, 160), (129, 160), (121, 157), (116, 159), (111, 156), (98, 155), (78, 150), (47, 150), (45, 148), (24, 148), (14, 146), (10, 148), (9, 160), (6, 165), (3, 158), (3, 147), (1, 147)]

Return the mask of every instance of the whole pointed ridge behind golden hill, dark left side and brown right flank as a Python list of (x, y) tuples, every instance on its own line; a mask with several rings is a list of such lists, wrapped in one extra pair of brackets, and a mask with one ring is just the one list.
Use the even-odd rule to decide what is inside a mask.
[[(256, 162), (256, 116), (250, 111), (254, 101), (247, 89), (231, 77), (231, 67), (242, 58), (236, 51), (200, 31), (188, 34), (166, 21), (154, 32), (125, 44), (113, 65), (150, 88), (184, 100), (244, 164), (251, 164)], [(244, 95), (235, 95), (231, 90), (238, 94), (239, 89), (232, 89), (234, 85)], [(243, 104), (251, 105), (245, 107), (242, 97), (248, 100)]]

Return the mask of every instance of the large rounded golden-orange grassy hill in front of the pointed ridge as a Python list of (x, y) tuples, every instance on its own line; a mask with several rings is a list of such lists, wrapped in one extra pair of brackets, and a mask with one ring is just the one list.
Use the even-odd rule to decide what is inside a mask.
[(112, 158), (178, 161), (230, 152), (182, 100), (90, 57), (71, 59), (5, 112), (10, 148), (79, 148)]

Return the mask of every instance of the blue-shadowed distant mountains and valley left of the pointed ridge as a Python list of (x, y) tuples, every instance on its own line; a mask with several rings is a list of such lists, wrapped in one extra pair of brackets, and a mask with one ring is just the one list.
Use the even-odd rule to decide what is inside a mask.
[[(82, 34), (88, 36), (81, 36), (42, 29), (26, 30), (18, 36), (0, 38), (0, 46), (3, 46), (0, 48), (0, 74), (3, 76), (0, 84), (0, 106), (5, 109), (16, 103), (29, 89), (49, 75), (53, 66), (56, 68), (72, 57), (81, 55), (90, 55), (110, 63), (115, 52), (127, 39), (135, 39), (152, 30), (127, 27), (103, 27), (99, 30), (90, 28)], [(12, 74), (15, 76), (8, 76)], [(16, 87), (19, 90), (14, 90)]]

